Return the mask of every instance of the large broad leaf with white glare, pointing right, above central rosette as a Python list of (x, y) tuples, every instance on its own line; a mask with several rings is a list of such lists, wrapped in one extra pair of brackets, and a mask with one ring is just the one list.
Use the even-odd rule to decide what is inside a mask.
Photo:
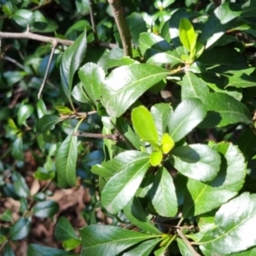
[(169, 72), (148, 64), (118, 67), (105, 79), (102, 104), (111, 117), (119, 117), (143, 93), (164, 79)]

